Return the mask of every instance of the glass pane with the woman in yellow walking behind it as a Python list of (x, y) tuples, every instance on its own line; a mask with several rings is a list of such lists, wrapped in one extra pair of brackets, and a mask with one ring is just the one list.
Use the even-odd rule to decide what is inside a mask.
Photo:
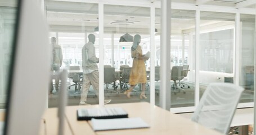
[(105, 4), (104, 92), (111, 104), (150, 101), (149, 51), (150, 8)]

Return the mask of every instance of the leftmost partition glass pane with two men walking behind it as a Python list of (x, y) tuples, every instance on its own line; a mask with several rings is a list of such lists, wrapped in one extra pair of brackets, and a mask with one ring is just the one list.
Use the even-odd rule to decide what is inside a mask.
[[(52, 71), (57, 73), (65, 68), (69, 72), (69, 83), (67, 84), (68, 105), (79, 105), (80, 101), (85, 102), (85, 104), (82, 102), (82, 105), (98, 104), (98, 91), (93, 89), (97, 84), (89, 86), (88, 76), (84, 74), (89, 72), (95, 73), (94, 77), (98, 75), (99, 38), (95, 31), (98, 26), (98, 4), (45, 1), (45, 5), (47, 21), (51, 31), (49, 40), (54, 48)], [(90, 34), (93, 34), (93, 36), (88, 38)], [(56, 38), (56, 41), (52, 38)], [(82, 50), (85, 44), (92, 53), (83, 53)], [(58, 48), (61, 49), (58, 50)], [(85, 70), (83, 55), (89, 56), (86, 59), (93, 57), (93, 62), (90, 62), (93, 66), (92, 70)], [(60, 64), (56, 64), (56, 61), (59, 61)], [(60, 83), (59, 79), (52, 79), (53, 85), (48, 96), (49, 107), (56, 107), (57, 105)]]

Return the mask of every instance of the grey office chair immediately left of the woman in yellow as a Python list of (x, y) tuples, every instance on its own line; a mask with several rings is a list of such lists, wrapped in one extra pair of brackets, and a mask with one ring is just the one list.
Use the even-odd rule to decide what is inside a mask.
[[(131, 73), (132, 68), (131, 67), (127, 67), (124, 68), (122, 76), (120, 78), (120, 86), (121, 86), (121, 91), (126, 91), (128, 88), (128, 83), (129, 83), (129, 78), (130, 78), (130, 73)], [(134, 90), (136, 91), (136, 90)]]

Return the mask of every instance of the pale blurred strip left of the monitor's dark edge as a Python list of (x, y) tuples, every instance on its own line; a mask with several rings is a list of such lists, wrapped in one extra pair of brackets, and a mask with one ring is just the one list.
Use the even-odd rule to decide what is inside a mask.
[[(2, 5), (3, 4), (3, 5)], [(17, 1), (0, 2), (0, 109), (6, 108), (7, 84), (13, 53)]]

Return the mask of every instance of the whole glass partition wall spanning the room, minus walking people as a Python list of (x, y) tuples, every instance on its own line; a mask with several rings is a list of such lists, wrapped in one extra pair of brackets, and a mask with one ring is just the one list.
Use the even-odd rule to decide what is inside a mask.
[[(104, 74), (104, 82), (102, 82), (104, 84), (100, 84), (103, 86), (100, 91), (104, 91), (105, 100), (111, 99), (110, 104), (150, 102), (150, 97), (154, 93), (152, 97), (155, 100), (151, 104), (159, 105), (161, 80), (159, 80), (160, 71), (157, 70), (161, 66), (160, 60), (166, 59), (160, 58), (160, 47), (162, 46), (160, 43), (160, 2), (156, 2), (156, 4), (142, 3), (126, 5), (123, 2), (113, 4), (98, 1), (45, 1), (47, 21), (51, 30), (49, 40), (51, 37), (56, 37), (56, 44), (59, 44), (62, 49), (60, 70), (67, 68), (70, 73), (69, 87), (67, 88), (69, 105), (79, 105), (80, 103), (80, 95), (85, 86), (82, 50), (84, 45), (90, 42), (88, 38), (90, 34), (95, 36), (93, 43), (95, 56), (97, 58), (102, 56), (100, 59), (103, 60), (100, 62), (103, 63), (104, 68), (99, 66), (98, 61), (96, 61), (96, 65), (98, 72)], [(170, 72), (174, 75), (174, 71), (180, 67), (182, 67), (182, 72), (179, 74), (181, 79), (171, 77), (170, 85), (172, 87), (166, 90), (171, 92), (172, 109), (175, 109), (175, 112), (184, 112), (182, 109), (187, 107), (193, 111), (206, 87), (212, 82), (240, 85), (245, 88), (240, 103), (253, 102), (255, 15), (240, 13), (240, 29), (237, 29), (237, 32), (236, 10), (216, 9), (213, 12), (202, 8), (203, 10), (200, 11), (192, 5), (188, 6), (190, 10), (185, 10), (176, 4), (173, 7), (170, 24)], [(198, 17), (200, 18), (198, 25), (200, 30), (196, 35), (196, 19)], [(100, 19), (103, 19), (103, 23), (100, 22)], [(103, 31), (99, 33), (101, 29)], [(152, 29), (155, 29), (155, 33), (152, 33)], [(240, 35), (240, 43), (236, 42), (236, 32)], [(101, 34), (102, 37), (100, 37)], [(128, 79), (125, 77), (124, 67), (131, 69), (134, 66), (134, 56), (131, 50), (137, 49), (136, 47), (132, 49), (136, 34), (140, 35), (139, 46), (142, 55), (152, 50), (155, 52), (151, 53), (151, 56), (154, 56), (152, 60), (155, 65), (150, 64), (151, 59), (143, 61), (142, 64), (146, 70), (146, 99), (140, 98), (141, 85), (132, 88), (131, 95), (127, 97), (127, 90), (131, 88), (131, 84), (129, 77)], [(196, 41), (196, 36), (200, 37), (199, 41)], [(236, 49), (236, 47), (239, 48)], [(101, 50), (104, 50), (102, 51), (104, 54), (100, 53)], [(239, 55), (235, 56), (235, 54)], [(199, 65), (196, 66), (196, 64)], [(239, 70), (236, 70), (235, 65), (239, 65)], [(150, 80), (152, 67), (155, 68), (154, 80)], [(172, 70), (173, 67), (176, 68)], [(197, 69), (199, 69), (198, 73)], [(78, 74), (78, 78), (75, 74)], [(113, 78), (111, 79), (111, 77)], [(58, 92), (55, 87), (57, 79), (53, 79), (52, 82), (52, 95), (48, 96), (49, 107), (57, 105)], [(150, 88), (153, 83), (155, 88)], [(92, 86), (89, 87), (86, 103), (98, 104), (98, 95)]]

